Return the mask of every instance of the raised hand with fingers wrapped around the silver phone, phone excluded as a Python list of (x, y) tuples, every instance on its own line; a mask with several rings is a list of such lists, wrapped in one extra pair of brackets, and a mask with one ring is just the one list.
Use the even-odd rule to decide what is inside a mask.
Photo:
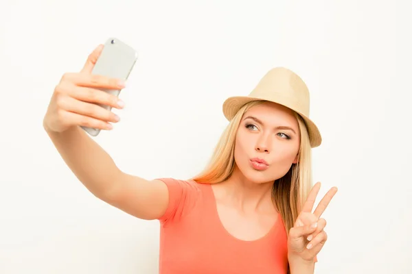
[(43, 119), (47, 131), (64, 132), (76, 126), (112, 129), (111, 123), (119, 121), (116, 114), (96, 105), (99, 103), (117, 109), (124, 106), (115, 95), (98, 89), (122, 89), (124, 82), (91, 74), (103, 47), (100, 45), (89, 55), (80, 73), (65, 73), (62, 76)]

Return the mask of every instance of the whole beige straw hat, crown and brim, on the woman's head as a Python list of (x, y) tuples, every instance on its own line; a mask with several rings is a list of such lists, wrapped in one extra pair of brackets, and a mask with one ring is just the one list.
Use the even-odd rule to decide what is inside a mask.
[(304, 81), (293, 71), (283, 67), (271, 69), (264, 75), (249, 96), (229, 97), (223, 103), (223, 114), (231, 121), (245, 103), (265, 100), (294, 110), (306, 122), (311, 147), (319, 147), (322, 137), (317, 126), (309, 119), (309, 90)]

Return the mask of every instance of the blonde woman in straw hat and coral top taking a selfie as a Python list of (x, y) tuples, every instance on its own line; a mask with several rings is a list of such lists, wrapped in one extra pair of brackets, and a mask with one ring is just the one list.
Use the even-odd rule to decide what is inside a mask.
[(300, 77), (276, 68), (248, 97), (227, 99), (230, 123), (203, 173), (148, 181), (120, 171), (79, 127), (111, 129), (118, 117), (94, 103), (124, 105), (98, 89), (124, 83), (91, 75), (101, 51), (89, 55), (80, 73), (62, 77), (43, 125), (93, 195), (161, 222), (159, 273), (313, 273), (326, 241), (320, 217), (336, 188), (312, 212), (320, 184), (312, 188), (310, 150), (321, 135), (308, 118)]

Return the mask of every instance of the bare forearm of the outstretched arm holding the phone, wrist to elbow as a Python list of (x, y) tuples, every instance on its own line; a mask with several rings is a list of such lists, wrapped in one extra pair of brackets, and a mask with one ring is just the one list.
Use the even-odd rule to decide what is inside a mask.
[(62, 133), (45, 129), (74, 175), (93, 195), (104, 199), (120, 174), (111, 156), (80, 127)]

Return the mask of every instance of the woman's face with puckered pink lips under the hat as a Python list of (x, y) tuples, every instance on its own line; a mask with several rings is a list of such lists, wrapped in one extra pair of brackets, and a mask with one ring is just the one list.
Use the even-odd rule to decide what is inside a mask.
[(236, 134), (235, 162), (250, 182), (273, 182), (297, 162), (299, 146), (299, 124), (292, 110), (266, 102), (242, 116)]

